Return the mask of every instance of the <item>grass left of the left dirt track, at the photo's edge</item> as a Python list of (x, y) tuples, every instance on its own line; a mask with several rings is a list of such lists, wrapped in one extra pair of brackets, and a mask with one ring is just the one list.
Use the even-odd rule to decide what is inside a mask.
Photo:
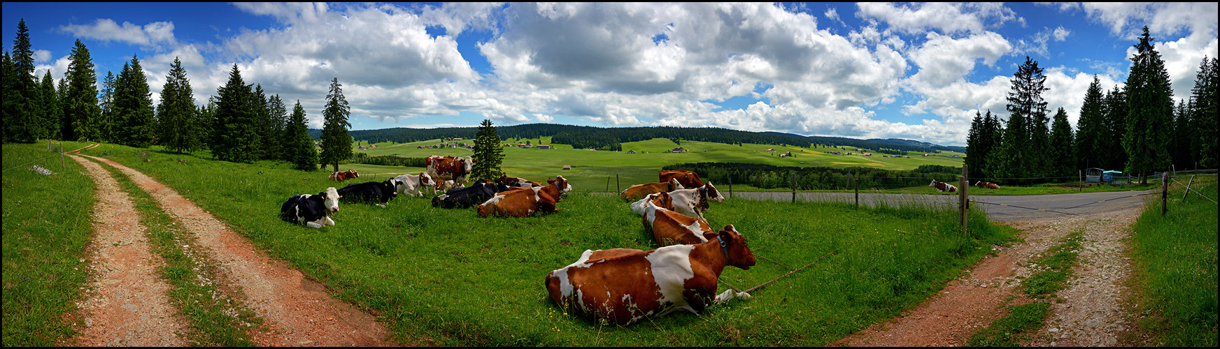
[[(65, 148), (71, 150), (72, 143)], [(4, 345), (51, 347), (76, 334), (71, 316), (88, 282), (85, 246), (95, 186), (46, 145), (4, 145)], [(29, 170), (40, 165), (56, 174)]]

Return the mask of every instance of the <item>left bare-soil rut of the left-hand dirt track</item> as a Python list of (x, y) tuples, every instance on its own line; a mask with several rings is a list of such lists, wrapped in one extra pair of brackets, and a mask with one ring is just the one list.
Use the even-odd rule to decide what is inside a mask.
[(98, 184), (94, 236), (88, 246), (94, 275), (85, 300), (77, 304), (84, 327), (66, 345), (182, 347), (183, 320), (174, 316), (157, 276), (160, 258), (149, 252), (139, 213), (101, 165), (71, 156)]

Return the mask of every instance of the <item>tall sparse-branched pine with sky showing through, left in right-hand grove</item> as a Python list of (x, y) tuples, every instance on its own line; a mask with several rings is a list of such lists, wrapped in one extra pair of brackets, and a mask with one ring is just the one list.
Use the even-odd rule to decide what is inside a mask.
[(1050, 131), (1047, 125), (1047, 102), (1042, 98), (1042, 92), (1049, 90), (1044, 86), (1046, 80), (1038, 62), (1025, 56), (1025, 63), (1016, 68), (1010, 79), (1011, 91), (1008, 92), (1008, 112), (1025, 116), (1028, 142), (1019, 156), (1027, 158), (1031, 167), (1026, 170), (1031, 176), (1043, 176), (1049, 171)]

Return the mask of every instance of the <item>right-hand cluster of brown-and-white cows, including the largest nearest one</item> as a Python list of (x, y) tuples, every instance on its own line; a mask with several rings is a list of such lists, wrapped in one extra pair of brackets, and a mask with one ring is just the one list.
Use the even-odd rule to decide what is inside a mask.
[(551, 300), (601, 323), (626, 326), (680, 309), (699, 314), (711, 304), (750, 298), (733, 289), (716, 294), (725, 266), (749, 270), (755, 259), (733, 225), (714, 231), (703, 218), (708, 202), (725, 201), (711, 182), (704, 184), (693, 171), (661, 171), (660, 182), (633, 185), (620, 197), (634, 201), (631, 210), (660, 248), (587, 249), (576, 263), (547, 275)]

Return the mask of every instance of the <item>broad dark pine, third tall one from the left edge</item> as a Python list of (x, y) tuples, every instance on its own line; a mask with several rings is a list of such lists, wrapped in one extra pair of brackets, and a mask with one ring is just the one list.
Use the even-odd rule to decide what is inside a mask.
[(156, 140), (156, 122), (152, 109), (152, 92), (140, 60), (132, 56), (131, 64), (123, 64), (115, 84), (115, 141), (122, 145), (146, 148)]

